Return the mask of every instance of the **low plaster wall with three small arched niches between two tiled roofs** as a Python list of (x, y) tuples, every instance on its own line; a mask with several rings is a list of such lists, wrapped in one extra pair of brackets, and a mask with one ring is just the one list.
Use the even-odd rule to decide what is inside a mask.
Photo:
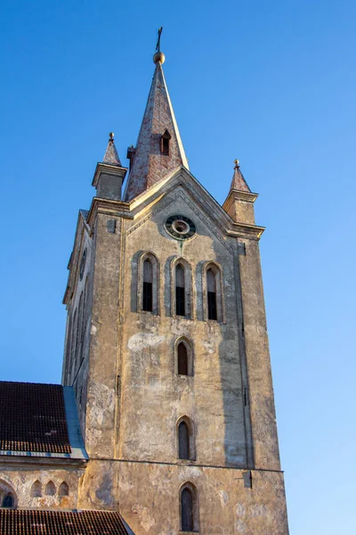
[[(9, 485), (15, 494), (15, 506), (51, 509), (76, 509), (78, 481), (83, 470), (77, 468), (51, 468), (49, 466), (0, 465), (0, 491)], [(31, 487), (35, 481), (42, 484), (42, 496), (31, 497)], [(53, 481), (55, 493), (49, 496), (45, 493), (45, 486)], [(59, 496), (61, 483), (65, 481), (69, 486), (69, 496)]]

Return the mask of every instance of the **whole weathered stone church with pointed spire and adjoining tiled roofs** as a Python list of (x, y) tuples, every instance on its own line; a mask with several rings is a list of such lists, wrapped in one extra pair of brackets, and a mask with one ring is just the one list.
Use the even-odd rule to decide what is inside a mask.
[(162, 70), (79, 210), (61, 385), (0, 383), (1, 535), (287, 535), (254, 202), (189, 169)]

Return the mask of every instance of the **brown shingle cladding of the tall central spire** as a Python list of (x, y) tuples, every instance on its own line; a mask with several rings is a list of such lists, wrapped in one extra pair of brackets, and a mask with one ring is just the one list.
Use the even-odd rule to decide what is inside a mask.
[[(168, 154), (161, 149), (161, 137), (166, 131), (171, 136)], [(182, 165), (189, 169), (162, 65), (158, 61), (137, 145), (131, 157), (125, 201), (131, 201)]]

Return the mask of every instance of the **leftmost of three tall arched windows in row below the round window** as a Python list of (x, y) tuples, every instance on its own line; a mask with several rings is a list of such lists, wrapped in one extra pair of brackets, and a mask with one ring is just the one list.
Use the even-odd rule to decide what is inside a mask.
[(138, 259), (137, 311), (159, 314), (159, 263), (153, 252), (143, 252)]

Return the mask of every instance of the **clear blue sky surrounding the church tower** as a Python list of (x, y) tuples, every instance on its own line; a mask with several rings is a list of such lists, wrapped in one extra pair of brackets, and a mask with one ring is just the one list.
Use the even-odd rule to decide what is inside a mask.
[(233, 160), (257, 223), (291, 535), (355, 527), (352, 0), (2, 3), (2, 379), (60, 382), (77, 210), (116, 133), (125, 162), (156, 32), (190, 169)]

